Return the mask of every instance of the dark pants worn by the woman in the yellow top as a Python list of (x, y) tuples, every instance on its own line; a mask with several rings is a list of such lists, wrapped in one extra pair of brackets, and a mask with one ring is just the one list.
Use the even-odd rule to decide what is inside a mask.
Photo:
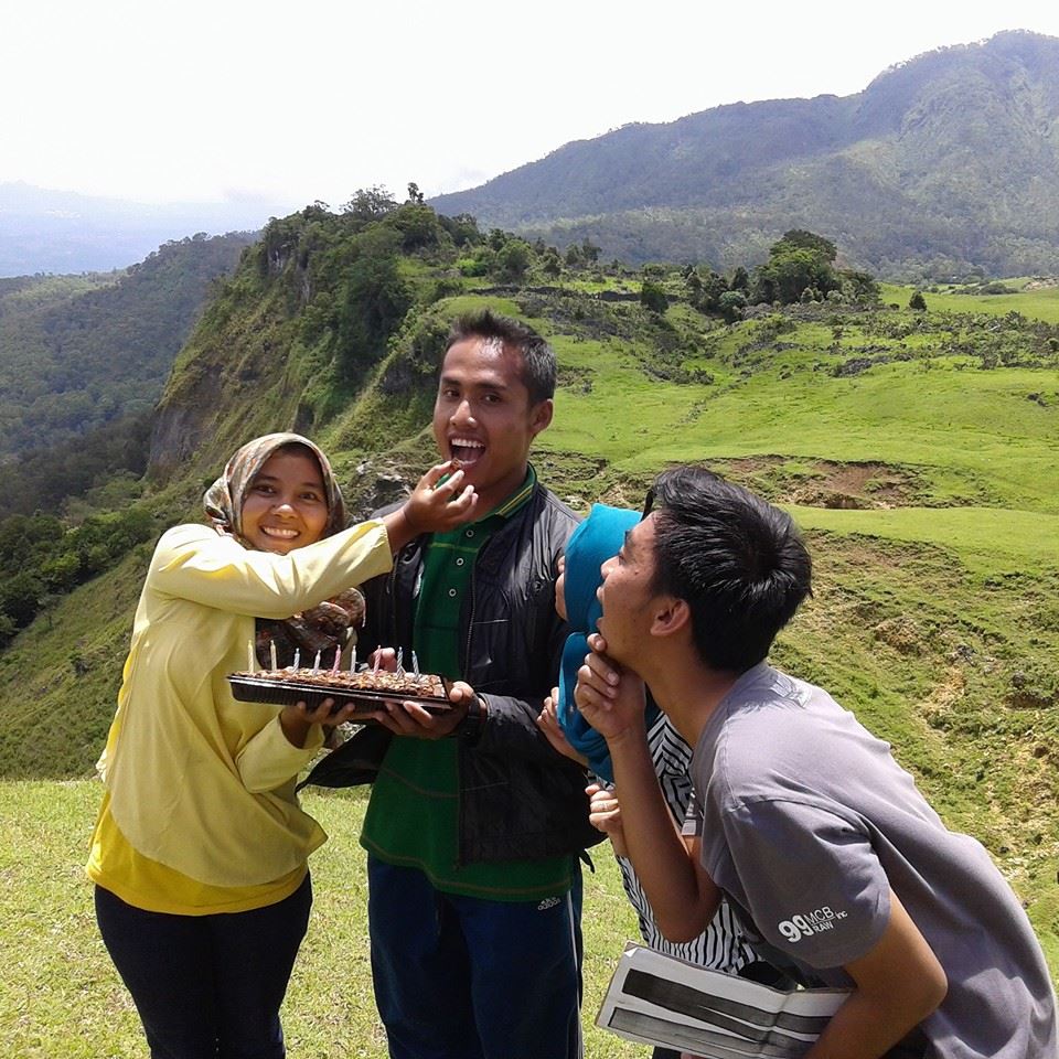
[(104, 943), (152, 1059), (282, 1059), (279, 1006), (309, 923), (309, 876), (249, 912), (170, 916), (96, 887)]

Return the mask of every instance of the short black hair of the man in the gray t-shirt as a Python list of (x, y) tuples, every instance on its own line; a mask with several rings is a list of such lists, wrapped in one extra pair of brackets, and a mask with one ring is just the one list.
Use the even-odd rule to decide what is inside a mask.
[(812, 559), (787, 512), (702, 467), (663, 471), (649, 493), (656, 591), (687, 602), (710, 668), (745, 673), (812, 595)]

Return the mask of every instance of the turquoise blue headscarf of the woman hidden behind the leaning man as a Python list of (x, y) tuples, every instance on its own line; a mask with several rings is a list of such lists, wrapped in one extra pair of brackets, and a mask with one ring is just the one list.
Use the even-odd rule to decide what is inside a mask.
[(639, 521), (638, 511), (592, 504), (588, 517), (574, 531), (566, 546), (563, 595), (571, 632), (563, 649), (556, 715), (566, 741), (588, 758), (588, 767), (598, 777), (610, 783), (614, 780), (614, 773), (607, 740), (578, 713), (574, 704), (574, 687), (577, 684), (577, 671), (588, 654), (588, 635), (596, 632), (596, 622), (602, 614), (596, 598), (596, 589), (602, 582), (599, 568), (618, 554), (625, 533)]

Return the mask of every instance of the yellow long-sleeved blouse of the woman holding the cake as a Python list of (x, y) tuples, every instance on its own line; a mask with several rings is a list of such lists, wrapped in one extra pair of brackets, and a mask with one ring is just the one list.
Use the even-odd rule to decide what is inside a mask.
[[(255, 617), (288, 618), (391, 565), (385, 527), (374, 521), (285, 556), (203, 525), (163, 534), (98, 763), (107, 794), (89, 877), (105, 886), (117, 878), (113, 888), (132, 905), (138, 879), (157, 888), (172, 873), (214, 902), (217, 888), (245, 895), (297, 885), (327, 838), (295, 794), (322, 734), (291, 746), (280, 707), (236, 702), (226, 676), (246, 668)], [(145, 876), (145, 862), (160, 873)], [(139, 903), (157, 907), (157, 895), (147, 898)]]

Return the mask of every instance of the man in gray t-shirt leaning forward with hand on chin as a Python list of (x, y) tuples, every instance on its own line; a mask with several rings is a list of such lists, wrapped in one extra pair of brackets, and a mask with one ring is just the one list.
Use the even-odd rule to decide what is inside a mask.
[[(811, 1059), (1057, 1059), (1056, 999), (1017, 898), (825, 692), (764, 659), (811, 582), (790, 517), (677, 468), (603, 566), (601, 635), (575, 700), (607, 738), (622, 832), (660, 929), (721, 894), (755, 948), (851, 988)], [(649, 510), (651, 504), (649, 494)], [(643, 684), (695, 747), (685, 835), (646, 749)]]

